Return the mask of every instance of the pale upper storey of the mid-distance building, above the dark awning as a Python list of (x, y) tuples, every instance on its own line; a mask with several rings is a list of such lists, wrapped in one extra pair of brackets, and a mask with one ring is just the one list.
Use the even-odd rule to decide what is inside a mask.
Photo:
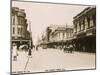
[(66, 41), (73, 37), (73, 29), (67, 27), (58, 27), (50, 34), (50, 42)]

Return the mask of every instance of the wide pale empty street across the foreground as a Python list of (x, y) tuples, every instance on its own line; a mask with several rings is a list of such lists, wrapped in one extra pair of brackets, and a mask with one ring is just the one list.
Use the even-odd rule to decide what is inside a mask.
[(19, 52), (17, 61), (12, 61), (12, 72), (45, 72), (54, 70), (95, 69), (95, 53), (64, 53), (59, 49), (32, 50)]

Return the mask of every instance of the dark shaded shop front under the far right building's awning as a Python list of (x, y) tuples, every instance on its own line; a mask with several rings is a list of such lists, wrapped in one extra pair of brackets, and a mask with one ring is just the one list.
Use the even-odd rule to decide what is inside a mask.
[(85, 33), (77, 35), (75, 47), (77, 51), (96, 52), (96, 34), (95, 30), (88, 30)]

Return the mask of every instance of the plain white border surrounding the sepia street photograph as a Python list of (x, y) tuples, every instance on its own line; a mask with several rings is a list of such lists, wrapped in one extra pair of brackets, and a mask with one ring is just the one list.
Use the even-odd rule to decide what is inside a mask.
[[(34, 1), (34, 0), (30, 0)], [(35, 0), (56, 3), (88, 4), (97, 6), (97, 70), (41, 73), (40, 75), (99, 75), (100, 72), (100, 0)], [(10, 0), (0, 0), (0, 75), (10, 71)], [(35, 74), (34, 74), (35, 75)]]

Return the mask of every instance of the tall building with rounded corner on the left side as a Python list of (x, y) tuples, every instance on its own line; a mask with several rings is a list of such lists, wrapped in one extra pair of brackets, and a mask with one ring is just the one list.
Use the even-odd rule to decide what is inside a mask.
[(12, 7), (12, 43), (24, 44), (30, 39), (27, 30), (27, 19), (24, 9)]

